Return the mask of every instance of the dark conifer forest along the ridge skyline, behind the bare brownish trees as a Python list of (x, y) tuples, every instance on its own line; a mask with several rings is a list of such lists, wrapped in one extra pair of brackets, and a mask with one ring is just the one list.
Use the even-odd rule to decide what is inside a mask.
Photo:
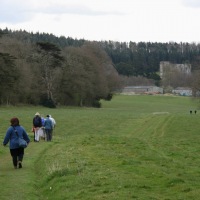
[[(28, 33), (26, 31), (11, 31), (5, 29), (12, 37), (25, 42), (51, 42), (64, 48), (66, 46), (81, 47), (84, 39), (73, 39), (64, 36), (56, 37), (47, 33)], [(150, 79), (159, 79), (159, 65), (161, 61), (171, 63), (190, 63), (193, 70), (199, 69), (200, 44), (188, 42), (117, 42), (98, 41), (111, 58), (115, 69), (120, 75), (143, 76)]]

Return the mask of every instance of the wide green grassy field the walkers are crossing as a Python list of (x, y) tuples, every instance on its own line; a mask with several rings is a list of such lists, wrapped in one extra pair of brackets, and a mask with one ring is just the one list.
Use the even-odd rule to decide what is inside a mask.
[(101, 109), (0, 107), (2, 141), (13, 116), (33, 140), (37, 111), (56, 119), (53, 141), (31, 142), (17, 170), (9, 148), (0, 147), (1, 200), (199, 199), (200, 114), (192, 99), (114, 96)]

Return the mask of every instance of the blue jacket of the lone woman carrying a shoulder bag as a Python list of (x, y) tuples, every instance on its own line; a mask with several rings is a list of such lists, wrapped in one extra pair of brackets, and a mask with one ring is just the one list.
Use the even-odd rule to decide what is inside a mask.
[[(15, 129), (17, 130), (20, 138), (26, 140), (27, 143), (30, 142), (28, 134), (26, 133), (25, 129), (22, 126), (15, 126)], [(15, 130), (12, 126), (10, 126), (6, 132), (3, 145), (8, 144), (8, 142), (10, 142), (10, 149), (19, 148), (18, 136), (16, 135)]]

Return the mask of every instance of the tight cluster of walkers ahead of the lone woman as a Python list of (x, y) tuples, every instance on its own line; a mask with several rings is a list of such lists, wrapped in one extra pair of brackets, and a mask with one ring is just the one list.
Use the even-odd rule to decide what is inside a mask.
[(46, 141), (52, 140), (53, 131), (55, 130), (56, 121), (51, 115), (46, 118), (41, 117), (39, 112), (36, 112), (33, 118), (33, 133), (34, 142), (39, 142), (41, 138)]

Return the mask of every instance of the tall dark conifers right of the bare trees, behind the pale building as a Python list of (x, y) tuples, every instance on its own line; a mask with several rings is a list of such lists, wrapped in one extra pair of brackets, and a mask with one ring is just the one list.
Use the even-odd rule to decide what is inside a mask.
[(113, 41), (101, 42), (111, 57), (119, 74), (144, 76), (159, 79), (157, 72), (161, 61), (190, 63), (193, 70), (198, 68), (200, 44), (196, 43), (151, 43)]

